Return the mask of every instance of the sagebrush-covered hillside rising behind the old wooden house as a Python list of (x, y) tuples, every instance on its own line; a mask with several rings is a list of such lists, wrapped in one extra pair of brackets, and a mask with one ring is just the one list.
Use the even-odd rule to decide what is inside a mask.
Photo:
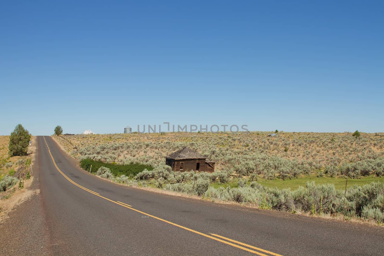
[[(183, 146), (215, 160), (215, 170), (234, 175), (256, 173), (264, 180), (295, 177), (381, 176), (384, 172), (384, 134), (279, 132), (162, 133), (67, 135), (55, 139), (76, 159), (131, 162), (152, 166)], [(371, 182), (372, 180), (367, 180)], [(273, 184), (272, 184), (273, 185)]]

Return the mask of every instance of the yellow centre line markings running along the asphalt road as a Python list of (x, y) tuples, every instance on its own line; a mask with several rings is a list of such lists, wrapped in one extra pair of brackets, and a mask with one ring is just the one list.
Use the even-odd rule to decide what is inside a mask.
[[(274, 255), (274, 256), (282, 256), (282, 255), (280, 255), (280, 254), (273, 253), (273, 252), (271, 252), (271, 251), (267, 251), (267, 250), (264, 250), (264, 249), (257, 248), (257, 247), (255, 247), (255, 246), (249, 245), (249, 244), (245, 244), (245, 243), (242, 243), (242, 242), (239, 242), (239, 241), (230, 239), (230, 238), (226, 238), (226, 237), (224, 237), (224, 236), (219, 236), (219, 235), (212, 234), (212, 233), (211, 233), (210, 235), (207, 235), (207, 234), (201, 233), (201, 232), (199, 232), (199, 231), (196, 231), (196, 230), (192, 230), (192, 229), (190, 229), (190, 228), (187, 228), (187, 227), (185, 227), (185, 226), (181, 226), (181, 225), (179, 225), (179, 224), (176, 224), (176, 223), (173, 223), (173, 222), (164, 220), (164, 219), (162, 219), (162, 218), (159, 218), (159, 217), (150, 215), (150, 214), (148, 214), (148, 213), (145, 213), (145, 212), (136, 210), (136, 209), (132, 208), (131, 205), (127, 205), (126, 203), (122, 203), (122, 202), (120, 202), (120, 201), (113, 201), (113, 200), (111, 200), (111, 199), (108, 199), (108, 198), (106, 198), (106, 197), (103, 197), (103, 196), (101, 196), (99, 193), (96, 193), (96, 192), (94, 192), (94, 191), (92, 191), (92, 190), (90, 190), (90, 189), (88, 189), (88, 188), (85, 188), (85, 187), (79, 185), (78, 183), (76, 183), (76, 182), (74, 182), (73, 180), (71, 180), (70, 178), (68, 178), (63, 172), (61, 172), (61, 170), (59, 169), (59, 167), (57, 167), (57, 165), (56, 165), (55, 159), (53, 159), (53, 156), (52, 156), (52, 154), (51, 154), (51, 150), (49, 149), (48, 144), (47, 144), (47, 142), (46, 142), (44, 136), (43, 136), (43, 138), (44, 138), (45, 144), (46, 144), (46, 146), (47, 146), (47, 148), (48, 148), (48, 152), (49, 152), (49, 154), (50, 154), (50, 156), (51, 156), (51, 158), (52, 158), (52, 162), (53, 162), (53, 164), (55, 165), (56, 169), (57, 169), (57, 170), (58, 170), (58, 171), (59, 171), (59, 172), (60, 172), (60, 173), (61, 173), (61, 174), (62, 174), (62, 175), (69, 181), (69, 182), (71, 182), (73, 185), (75, 185), (75, 186), (77, 186), (77, 187), (79, 187), (79, 188), (81, 188), (81, 189), (83, 189), (83, 190), (85, 190), (85, 191), (87, 191), (87, 192), (89, 192), (89, 193), (91, 193), (91, 194), (93, 194), (93, 195), (96, 195), (96, 196), (98, 196), (98, 197), (104, 198), (105, 200), (111, 201), (111, 202), (113, 202), (113, 203), (116, 203), (116, 204), (118, 204), (118, 205), (121, 205), (121, 206), (123, 206), (123, 207), (125, 207), (125, 208), (128, 208), (128, 209), (130, 209), (130, 210), (136, 211), (136, 212), (141, 213), (141, 214), (143, 214), (143, 215), (149, 216), (149, 217), (154, 218), (154, 219), (156, 219), (156, 220), (164, 221), (164, 222), (166, 222), (166, 223), (168, 223), (168, 224), (170, 224), (170, 225), (177, 226), (177, 227), (182, 228), (182, 229), (184, 229), (184, 230), (188, 230), (188, 231), (190, 231), (190, 232), (192, 232), (192, 233), (195, 233), (195, 234), (198, 234), (198, 235), (201, 235), (201, 236), (205, 236), (205, 237), (207, 237), (207, 238), (216, 240), (216, 241), (221, 242), (221, 243), (224, 243), (224, 244), (228, 244), (228, 245), (230, 245), (230, 246), (236, 247), (236, 248), (238, 248), (238, 249), (242, 249), (242, 250), (244, 250), (244, 251), (248, 251), (248, 252), (250, 252), (250, 253), (254, 253), (254, 254), (257, 254), (257, 255), (260, 255), (260, 256), (268, 256), (268, 255), (266, 255), (266, 254), (264, 254), (264, 253), (267, 253), (267, 254), (270, 254), (270, 255)], [(255, 250), (257, 250), (257, 251), (255, 251)], [(263, 253), (261, 253), (261, 252), (263, 252)]]

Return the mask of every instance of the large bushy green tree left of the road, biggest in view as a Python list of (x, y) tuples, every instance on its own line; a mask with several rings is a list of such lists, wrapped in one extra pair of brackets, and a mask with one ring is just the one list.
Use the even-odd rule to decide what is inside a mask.
[(10, 155), (26, 155), (31, 134), (21, 124), (15, 127), (9, 137), (9, 154)]

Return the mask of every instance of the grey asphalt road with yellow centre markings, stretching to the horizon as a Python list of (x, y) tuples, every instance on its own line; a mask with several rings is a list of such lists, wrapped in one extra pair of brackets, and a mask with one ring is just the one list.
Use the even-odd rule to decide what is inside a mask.
[(37, 143), (49, 255), (384, 255), (383, 228), (117, 185)]

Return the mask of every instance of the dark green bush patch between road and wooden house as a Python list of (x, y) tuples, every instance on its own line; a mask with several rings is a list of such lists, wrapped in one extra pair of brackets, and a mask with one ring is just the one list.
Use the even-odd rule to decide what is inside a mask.
[(95, 173), (100, 167), (104, 166), (109, 168), (111, 170), (111, 173), (115, 177), (119, 177), (121, 175), (126, 176), (135, 176), (137, 173), (142, 172), (144, 169), (147, 169), (149, 171), (153, 170), (153, 167), (151, 165), (145, 165), (145, 164), (116, 164), (116, 163), (104, 163), (102, 161), (95, 161), (92, 159), (83, 159), (80, 161), (80, 167), (86, 171), (89, 171), (92, 165), (92, 173)]

